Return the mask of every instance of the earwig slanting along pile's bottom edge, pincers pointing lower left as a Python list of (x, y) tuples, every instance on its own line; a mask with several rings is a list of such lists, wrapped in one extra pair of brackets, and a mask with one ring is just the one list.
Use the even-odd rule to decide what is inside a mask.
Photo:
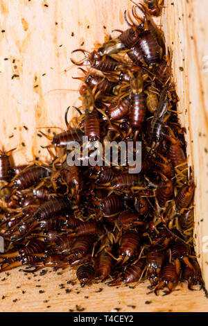
[(124, 284), (129, 284), (133, 282), (137, 282), (140, 280), (141, 275), (144, 271), (144, 261), (139, 260), (136, 264), (131, 264), (127, 266), (121, 272), (116, 280), (113, 280), (111, 282), (107, 282), (106, 284), (109, 286), (118, 286), (121, 285), (122, 283)]

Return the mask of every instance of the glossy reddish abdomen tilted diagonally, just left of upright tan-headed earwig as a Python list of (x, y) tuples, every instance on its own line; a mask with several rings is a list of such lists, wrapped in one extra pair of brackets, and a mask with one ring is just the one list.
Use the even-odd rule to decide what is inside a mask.
[(130, 101), (128, 98), (123, 98), (119, 103), (112, 103), (109, 108), (107, 108), (107, 114), (110, 117), (110, 120), (118, 120), (125, 115), (128, 115), (130, 109)]

